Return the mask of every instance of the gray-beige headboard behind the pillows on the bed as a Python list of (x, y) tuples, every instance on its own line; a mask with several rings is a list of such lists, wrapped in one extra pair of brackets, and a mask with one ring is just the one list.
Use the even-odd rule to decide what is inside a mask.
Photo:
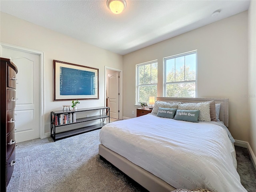
[(214, 100), (215, 103), (220, 103), (220, 121), (224, 122), (228, 127), (228, 98), (185, 98), (185, 97), (157, 97), (158, 101), (166, 102), (206, 102)]

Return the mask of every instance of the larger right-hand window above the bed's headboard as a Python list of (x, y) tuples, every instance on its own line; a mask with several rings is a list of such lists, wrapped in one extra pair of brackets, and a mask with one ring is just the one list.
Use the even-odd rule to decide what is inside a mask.
[(196, 97), (197, 52), (164, 58), (164, 96)]

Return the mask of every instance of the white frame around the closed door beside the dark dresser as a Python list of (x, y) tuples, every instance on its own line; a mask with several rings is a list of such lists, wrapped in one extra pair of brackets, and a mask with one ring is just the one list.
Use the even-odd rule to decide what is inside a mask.
[[(8, 43), (3, 43), (0, 42), (0, 50), (1, 50), (1, 54), (2, 54), (2, 48), (9, 48), (9, 49), (13, 49), (13, 50), (18, 50), (18, 51), (22, 51), (22, 52), (28, 52), (28, 53), (32, 53), (32, 54), (37, 54), (40, 56), (40, 66), (39, 66), (39, 70), (40, 70), (40, 112), (39, 112), (39, 125), (40, 125), (40, 138), (46, 138), (47, 136), (44, 134), (44, 52), (42, 51), (38, 51), (38, 50), (34, 50), (34, 49), (30, 49), (30, 48), (25, 48), (22, 46), (17, 46), (17, 45), (12, 45), (12, 44), (8, 44)], [(19, 70), (19, 69), (18, 69)]]

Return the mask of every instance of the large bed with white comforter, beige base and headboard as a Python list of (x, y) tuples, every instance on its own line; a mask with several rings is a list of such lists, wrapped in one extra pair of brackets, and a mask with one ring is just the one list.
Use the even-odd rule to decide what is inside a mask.
[[(208, 121), (210, 114), (203, 111), (211, 101), (220, 106), (216, 121), (211, 121), (212, 116)], [(166, 104), (155, 103), (158, 112), (166, 106), (183, 109), (186, 104), (203, 104), (206, 107), (200, 108), (199, 116), (207, 114), (207, 120), (203, 116), (198, 116), (200, 122), (165, 118), (153, 109), (155, 113), (112, 122), (100, 130), (100, 156), (150, 192), (195, 188), (246, 192), (236, 171), (234, 138), (228, 131), (228, 99), (158, 97), (156, 102)]]

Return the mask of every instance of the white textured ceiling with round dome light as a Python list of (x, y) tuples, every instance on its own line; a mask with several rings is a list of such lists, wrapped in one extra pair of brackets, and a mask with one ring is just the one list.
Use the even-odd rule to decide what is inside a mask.
[[(124, 55), (248, 10), (249, 0), (126, 0), (113, 14), (106, 0), (0, 0), (0, 10)], [(215, 10), (218, 16), (212, 17)]]

